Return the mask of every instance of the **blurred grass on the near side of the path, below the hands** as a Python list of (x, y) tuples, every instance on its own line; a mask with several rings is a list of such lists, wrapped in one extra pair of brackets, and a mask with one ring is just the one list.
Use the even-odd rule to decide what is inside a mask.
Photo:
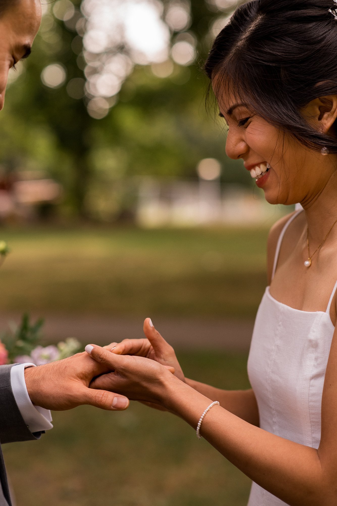
[[(249, 388), (247, 357), (179, 354), (187, 376)], [(53, 413), (40, 441), (4, 446), (18, 506), (245, 506), (250, 480), (180, 418), (132, 403)]]

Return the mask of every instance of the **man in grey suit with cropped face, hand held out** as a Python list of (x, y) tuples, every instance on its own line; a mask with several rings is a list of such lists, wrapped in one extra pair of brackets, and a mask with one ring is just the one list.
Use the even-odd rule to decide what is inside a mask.
[[(4, 106), (9, 70), (31, 51), (40, 26), (40, 0), (0, 0), (0, 110)], [(89, 389), (93, 377), (108, 372), (87, 353), (35, 367), (0, 366), (0, 442), (38, 439), (52, 428), (49, 409), (66, 410), (90, 404), (110, 411), (123, 410), (121, 395)], [(0, 448), (0, 506), (11, 506)]]

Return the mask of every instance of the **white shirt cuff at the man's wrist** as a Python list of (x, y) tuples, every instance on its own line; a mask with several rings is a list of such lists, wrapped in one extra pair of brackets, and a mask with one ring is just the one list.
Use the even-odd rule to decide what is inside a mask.
[(51, 413), (48, 409), (34, 406), (30, 400), (25, 382), (26, 367), (35, 367), (35, 364), (16, 364), (11, 369), (11, 385), (15, 401), (31, 433), (48, 431), (52, 429)]

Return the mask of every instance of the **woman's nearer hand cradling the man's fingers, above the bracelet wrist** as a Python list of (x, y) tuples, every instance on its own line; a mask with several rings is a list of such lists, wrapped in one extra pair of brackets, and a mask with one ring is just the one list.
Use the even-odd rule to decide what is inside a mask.
[(165, 386), (178, 381), (174, 367), (145, 357), (116, 355), (100, 346), (88, 345), (85, 350), (102, 367), (114, 371), (93, 379), (90, 388), (123, 392), (131, 400), (165, 407)]

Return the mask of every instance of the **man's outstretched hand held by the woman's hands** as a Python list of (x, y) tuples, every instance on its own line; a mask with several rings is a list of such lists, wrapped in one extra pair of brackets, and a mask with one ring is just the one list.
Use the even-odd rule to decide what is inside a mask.
[(89, 388), (94, 377), (110, 371), (106, 364), (97, 363), (84, 352), (58, 362), (26, 367), (25, 381), (35, 406), (64, 411), (90, 404), (111, 411), (124, 410), (129, 406), (127, 397)]

